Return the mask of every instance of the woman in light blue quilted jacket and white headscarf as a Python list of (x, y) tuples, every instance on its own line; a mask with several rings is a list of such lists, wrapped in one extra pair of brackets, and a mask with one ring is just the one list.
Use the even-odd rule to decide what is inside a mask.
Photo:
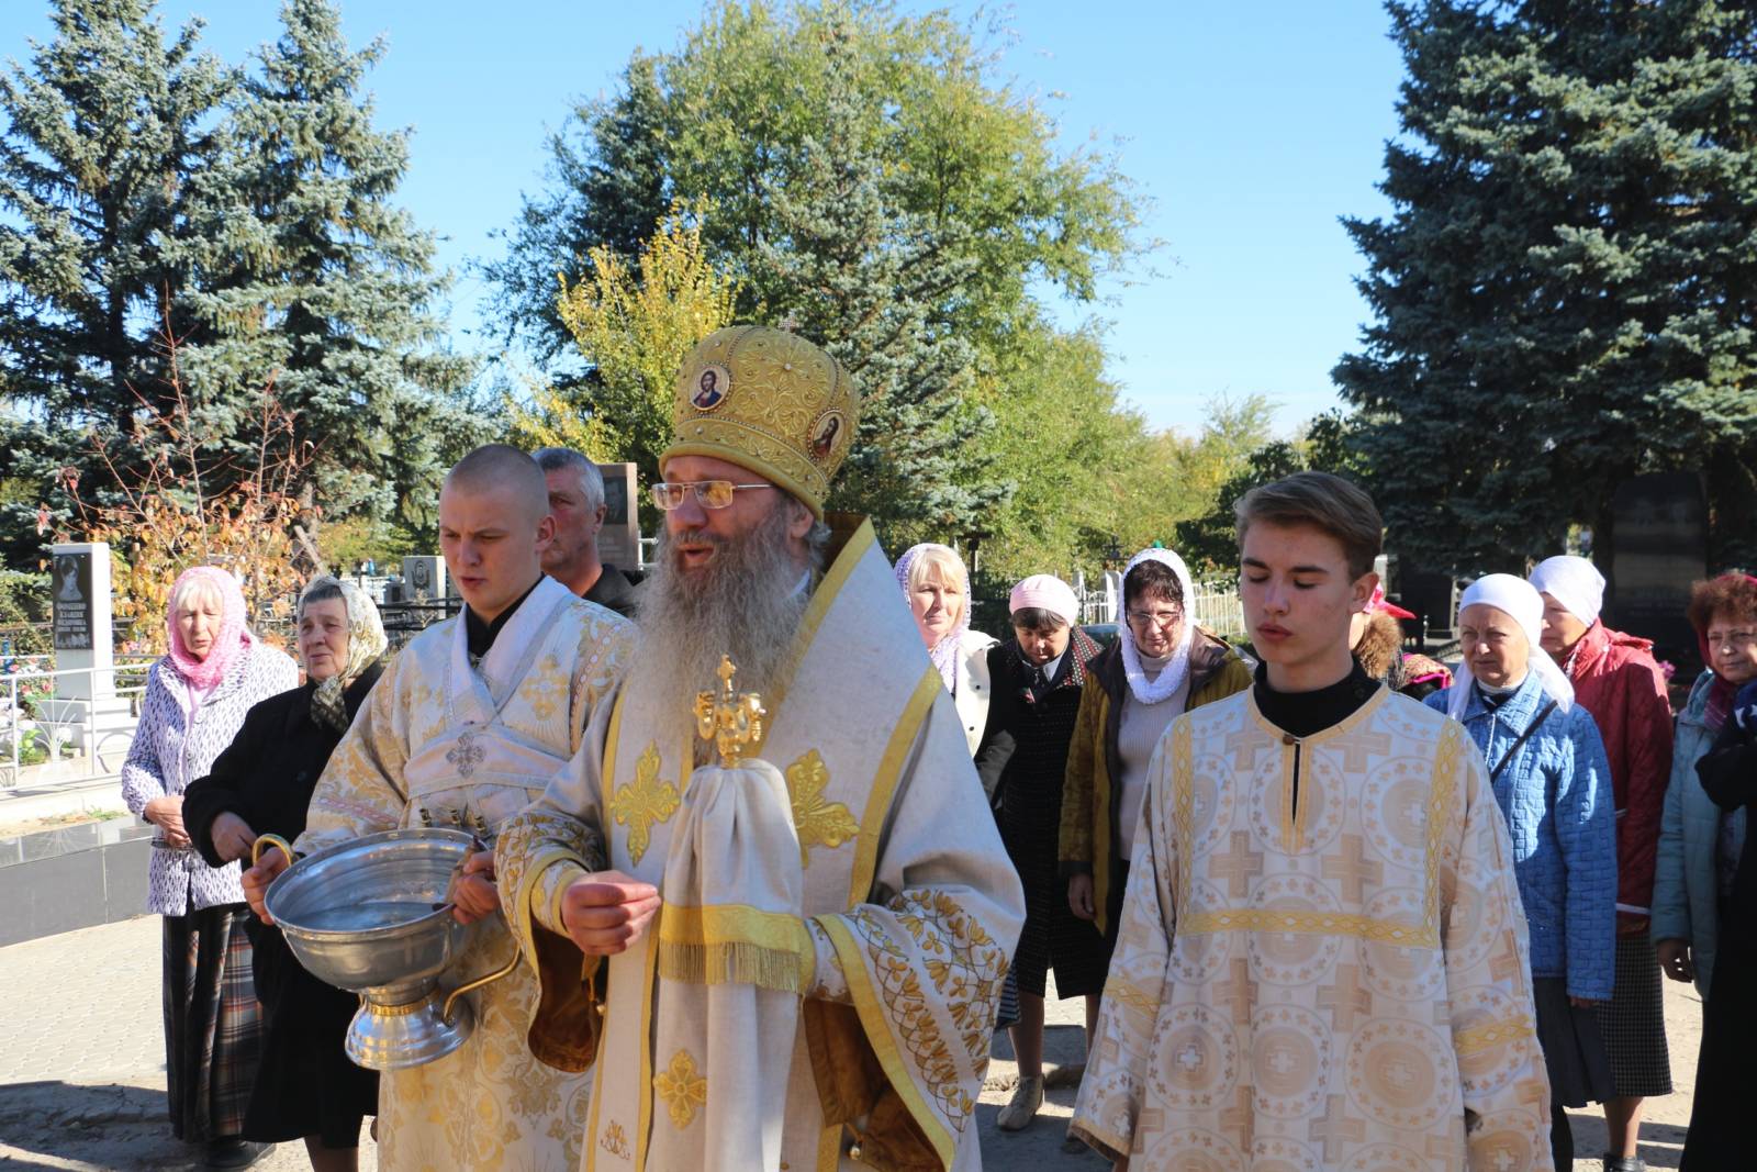
[(1574, 1137), (1564, 1109), (1611, 1096), (1592, 1007), (1611, 998), (1615, 977), (1616, 812), (1599, 729), (1539, 648), (1541, 633), (1543, 597), (1529, 582), (1479, 578), (1460, 599), (1457, 680), (1423, 703), (1464, 722), (1508, 819), (1550, 1070), (1550, 1146), (1565, 1172)]

